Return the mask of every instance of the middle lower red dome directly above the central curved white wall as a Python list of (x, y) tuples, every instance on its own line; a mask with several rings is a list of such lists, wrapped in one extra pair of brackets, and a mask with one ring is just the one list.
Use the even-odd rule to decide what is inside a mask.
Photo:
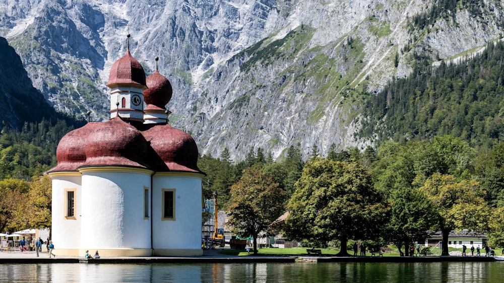
[(120, 117), (97, 124), (86, 140), (86, 162), (82, 166), (147, 168), (148, 143), (139, 130)]

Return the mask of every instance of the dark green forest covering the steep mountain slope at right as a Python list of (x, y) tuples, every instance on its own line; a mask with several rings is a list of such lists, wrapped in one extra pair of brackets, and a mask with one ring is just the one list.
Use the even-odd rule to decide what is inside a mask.
[(419, 54), (408, 78), (395, 79), (363, 106), (359, 136), (381, 140), (461, 137), (472, 147), (491, 148), (504, 126), (504, 43), (490, 42), (480, 53), (439, 66)]

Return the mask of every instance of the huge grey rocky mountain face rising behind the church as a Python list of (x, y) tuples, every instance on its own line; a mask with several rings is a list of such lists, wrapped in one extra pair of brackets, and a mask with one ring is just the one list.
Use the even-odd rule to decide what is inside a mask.
[(451, 60), (498, 40), (498, 0), (0, 0), (0, 35), (56, 109), (105, 119), (111, 64), (130, 49), (172, 83), (170, 122), (202, 153), (363, 147), (361, 102), (416, 53)]

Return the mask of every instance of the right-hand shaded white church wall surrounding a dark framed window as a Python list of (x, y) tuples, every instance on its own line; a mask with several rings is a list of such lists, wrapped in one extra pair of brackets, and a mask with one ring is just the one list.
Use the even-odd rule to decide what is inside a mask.
[[(158, 173), (153, 187), (153, 249), (156, 255), (201, 255), (201, 177)], [(174, 220), (163, 220), (163, 190), (174, 190)], [(171, 251), (168, 251), (170, 249)]]

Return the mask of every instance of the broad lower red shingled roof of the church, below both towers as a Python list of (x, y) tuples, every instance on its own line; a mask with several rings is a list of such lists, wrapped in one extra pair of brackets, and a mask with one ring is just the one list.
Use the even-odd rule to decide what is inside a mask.
[(157, 124), (139, 131), (120, 117), (91, 122), (61, 138), (58, 165), (50, 170), (76, 171), (79, 167), (125, 166), (156, 172), (201, 172), (198, 147), (190, 134)]

